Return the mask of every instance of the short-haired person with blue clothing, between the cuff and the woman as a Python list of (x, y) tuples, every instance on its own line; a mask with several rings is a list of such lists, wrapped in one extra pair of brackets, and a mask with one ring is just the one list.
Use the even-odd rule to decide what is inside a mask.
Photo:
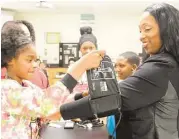
[[(120, 82), (125, 80), (127, 77), (131, 76), (139, 66), (139, 63), (140, 63), (140, 58), (134, 52), (127, 51), (120, 54), (115, 61), (115, 71), (116, 71), (117, 80)], [(116, 121), (118, 121), (119, 118), (120, 117), (118, 115), (116, 116), (112, 115), (107, 117), (107, 129), (110, 135), (109, 138), (112, 138), (112, 136), (114, 136), (114, 138), (119, 138), (119, 137), (122, 138), (122, 134), (128, 133), (129, 128), (128, 126), (123, 124), (122, 122), (123, 118), (119, 126), (117, 127), (116, 132), (114, 132), (117, 124)], [(120, 134), (118, 132), (119, 129), (120, 129)]]

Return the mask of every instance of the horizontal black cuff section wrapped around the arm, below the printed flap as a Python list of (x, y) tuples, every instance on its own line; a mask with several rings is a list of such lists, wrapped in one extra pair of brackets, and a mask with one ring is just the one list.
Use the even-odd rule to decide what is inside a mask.
[[(110, 101), (112, 103), (107, 103), (106, 101)], [(119, 103), (119, 95), (111, 95), (95, 100), (91, 100), (90, 96), (87, 96), (79, 100), (63, 104), (60, 107), (60, 113), (64, 120), (106, 117), (119, 112), (119, 108), (116, 107)]]

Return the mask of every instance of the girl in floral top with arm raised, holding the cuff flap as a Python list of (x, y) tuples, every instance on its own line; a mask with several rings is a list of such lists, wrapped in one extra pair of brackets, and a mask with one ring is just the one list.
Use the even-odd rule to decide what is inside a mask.
[(6, 26), (1, 32), (1, 67), (7, 69), (7, 78), (1, 80), (1, 138), (38, 138), (39, 124), (58, 117), (50, 114), (72, 101), (69, 92), (77, 80), (87, 69), (98, 67), (104, 54), (93, 51), (85, 55), (61, 81), (42, 90), (28, 81), (37, 59), (32, 39), (15, 22)]

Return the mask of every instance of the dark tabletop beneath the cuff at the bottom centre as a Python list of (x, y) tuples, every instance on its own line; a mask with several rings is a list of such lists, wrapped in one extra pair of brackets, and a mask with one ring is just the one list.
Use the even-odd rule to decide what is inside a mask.
[(84, 129), (75, 125), (74, 129), (64, 129), (64, 122), (58, 123), (61, 127), (46, 127), (42, 133), (43, 139), (108, 139), (106, 126)]

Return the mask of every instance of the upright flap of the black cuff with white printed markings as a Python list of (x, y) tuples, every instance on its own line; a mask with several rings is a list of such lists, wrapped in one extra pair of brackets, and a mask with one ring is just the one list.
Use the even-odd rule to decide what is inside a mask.
[(87, 71), (87, 79), (93, 113), (99, 118), (117, 114), (121, 97), (110, 57), (105, 55), (99, 68)]

